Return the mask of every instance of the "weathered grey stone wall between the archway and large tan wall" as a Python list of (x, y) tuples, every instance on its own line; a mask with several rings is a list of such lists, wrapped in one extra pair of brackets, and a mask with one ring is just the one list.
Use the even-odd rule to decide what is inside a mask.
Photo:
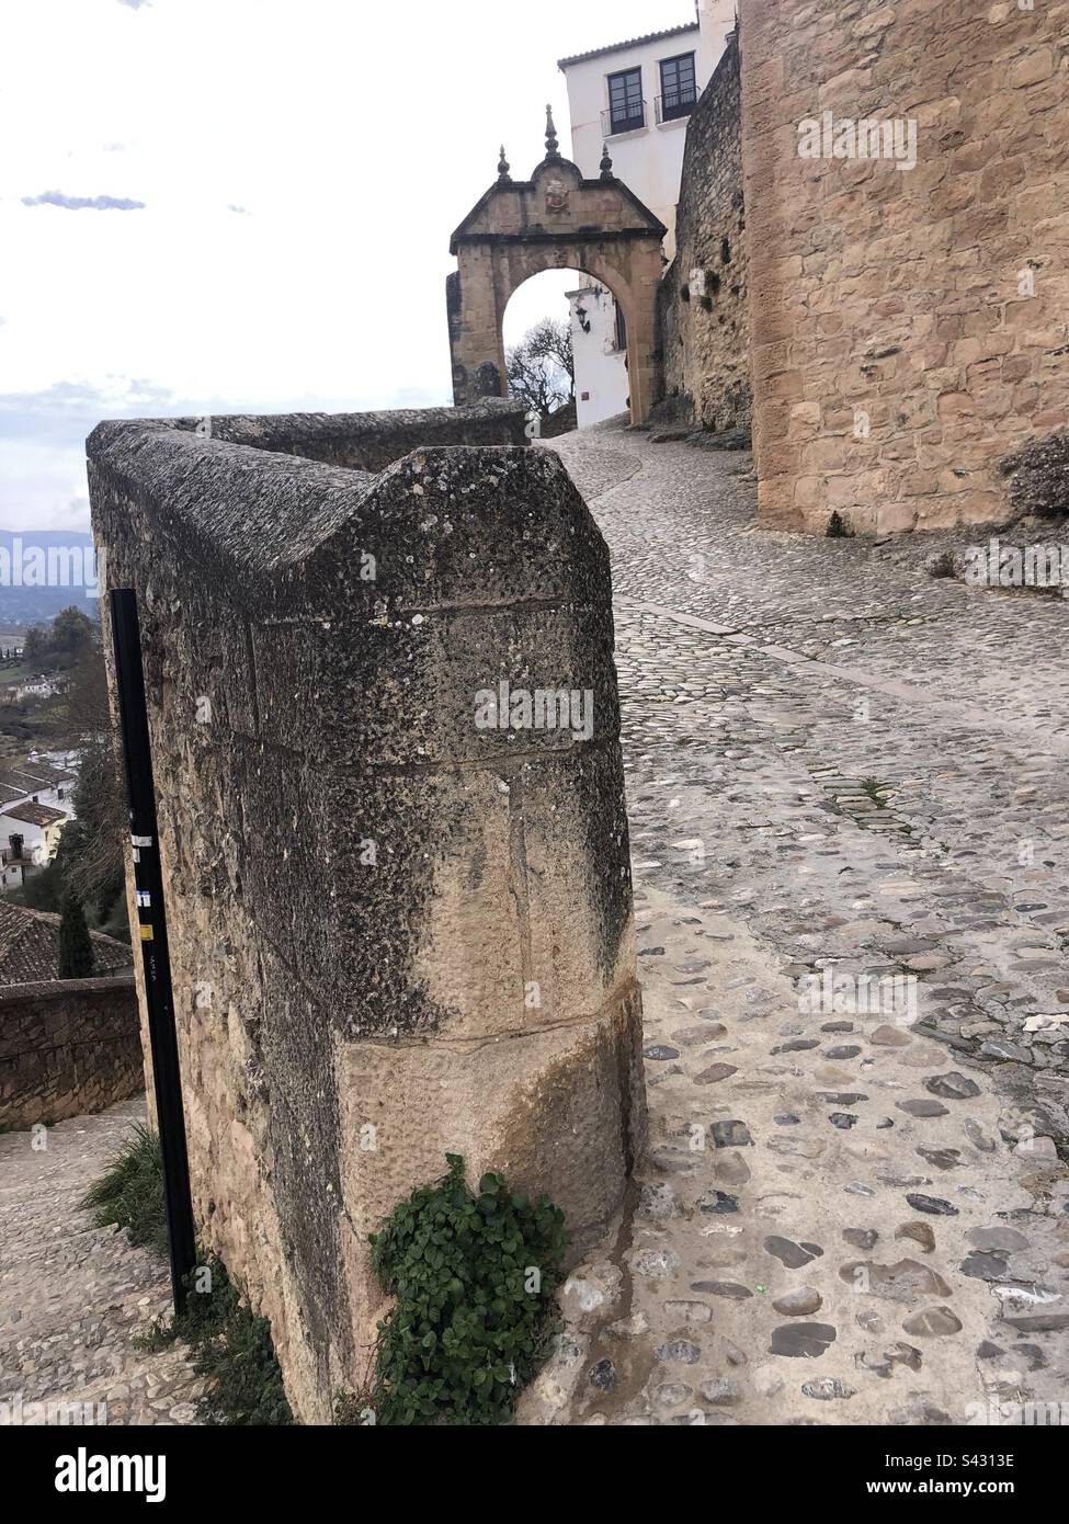
[[(738, 35), (686, 126), (677, 253), (657, 291), (659, 416), (715, 433), (750, 427)], [(695, 280), (694, 271), (698, 271)]]

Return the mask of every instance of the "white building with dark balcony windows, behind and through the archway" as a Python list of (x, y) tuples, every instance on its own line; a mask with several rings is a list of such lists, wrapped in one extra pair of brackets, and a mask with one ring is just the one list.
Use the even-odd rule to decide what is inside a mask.
[[(567, 81), (572, 158), (595, 180), (608, 149), (616, 178), (668, 229), (665, 262), (676, 251), (686, 122), (735, 26), (735, 0), (695, 0), (694, 9), (695, 20), (683, 26), (558, 64)], [(587, 428), (627, 407), (627, 335), (616, 302), (595, 280), (570, 293), (569, 303), (578, 425)], [(589, 328), (576, 317), (579, 306), (590, 317)]]

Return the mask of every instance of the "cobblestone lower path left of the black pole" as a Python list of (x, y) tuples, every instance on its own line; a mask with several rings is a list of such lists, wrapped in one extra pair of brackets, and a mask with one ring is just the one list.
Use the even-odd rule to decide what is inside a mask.
[[(79, 1207), (143, 1099), (0, 1137), (0, 1423), (192, 1423), (198, 1382), (180, 1347), (134, 1337), (171, 1311), (166, 1268)], [(55, 1404), (52, 1414), (32, 1405)]]

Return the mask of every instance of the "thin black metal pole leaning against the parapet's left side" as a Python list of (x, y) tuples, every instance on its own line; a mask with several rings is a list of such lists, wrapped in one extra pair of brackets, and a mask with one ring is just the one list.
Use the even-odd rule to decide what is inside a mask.
[(148, 1000), (148, 1035), (152, 1049), (152, 1079), (156, 1082), (156, 1116), (160, 1126), (163, 1155), (163, 1195), (168, 1213), (168, 1244), (171, 1250), (171, 1289), (174, 1311), (186, 1309), (183, 1279), (197, 1263), (197, 1230), (189, 1195), (189, 1157), (186, 1154), (186, 1119), (181, 1109), (181, 1070), (178, 1039), (174, 1027), (174, 994), (171, 989), (171, 957), (168, 925), (163, 910), (163, 869), (156, 826), (156, 786), (152, 783), (152, 753), (148, 741), (148, 709), (145, 704), (145, 671), (140, 658), (140, 625), (137, 596), (133, 588), (113, 588), (111, 646), (119, 690), (119, 724), (122, 756), (127, 768), (130, 800), (130, 832), (134, 852), (134, 884), (137, 887), (137, 933), (145, 966)]

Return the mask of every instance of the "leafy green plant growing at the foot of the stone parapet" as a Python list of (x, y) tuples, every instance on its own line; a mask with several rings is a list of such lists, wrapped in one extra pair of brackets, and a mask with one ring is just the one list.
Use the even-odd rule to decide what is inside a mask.
[(372, 1268), (396, 1298), (378, 1324), (377, 1423), (508, 1423), (554, 1334), (564, 1215), (502, 1175), (473, 1195), (461, 1155), (445, 1160), (444, 1178), (371, 1236)]

